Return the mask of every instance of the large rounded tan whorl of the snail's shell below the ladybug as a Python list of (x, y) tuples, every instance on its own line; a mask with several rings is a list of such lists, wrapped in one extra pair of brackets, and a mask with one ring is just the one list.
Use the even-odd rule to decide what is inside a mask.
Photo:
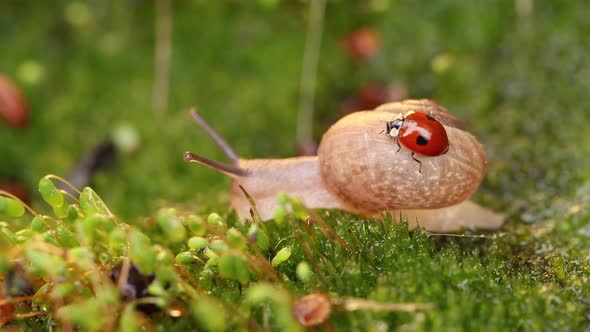
[[(318, 156), (326, 188), (350, 210), (441, 208), (464, 201), (483, 180), (486, 158), (471, 134), (445, 126), (449, 151), (412, 159), (411, 151), (383, 134), (388, 112), (356, 112), (323, 136)], [(344, 160), (345, 159), (345, 160)]]

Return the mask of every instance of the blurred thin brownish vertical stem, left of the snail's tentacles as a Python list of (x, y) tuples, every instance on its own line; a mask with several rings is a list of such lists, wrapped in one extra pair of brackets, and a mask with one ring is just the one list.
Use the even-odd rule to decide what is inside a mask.
[(155, 113), (165, 113), (170, 85), (170, 55), (172, 54), (171, 0), (156, 1), (156, 54), (152, 105)]

